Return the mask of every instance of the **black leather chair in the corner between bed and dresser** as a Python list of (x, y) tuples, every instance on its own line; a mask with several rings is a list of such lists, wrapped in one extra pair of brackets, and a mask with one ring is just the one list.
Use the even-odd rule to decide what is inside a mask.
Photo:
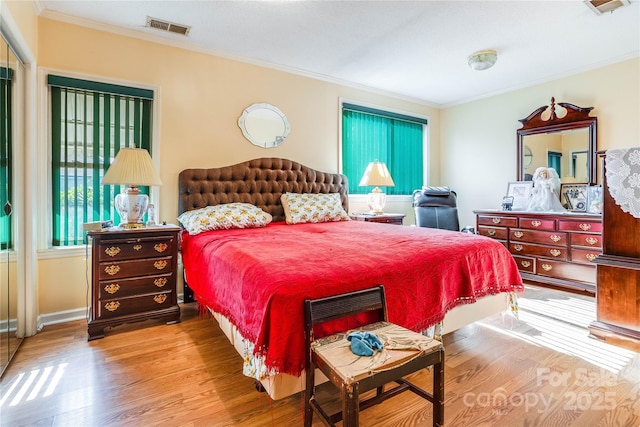
[(413, 192), (418, 227), (460, 231), (456, 192), (448, 187), (422, 187)]

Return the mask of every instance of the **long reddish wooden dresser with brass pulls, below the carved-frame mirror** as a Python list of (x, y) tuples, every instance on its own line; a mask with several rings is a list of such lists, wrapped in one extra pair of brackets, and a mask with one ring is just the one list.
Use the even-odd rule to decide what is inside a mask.
[(477, 210), (478, 234), (500, 241), (515, 259), (522, 279), (595, 294), (602, 253), (602, 217), (579, 213)]

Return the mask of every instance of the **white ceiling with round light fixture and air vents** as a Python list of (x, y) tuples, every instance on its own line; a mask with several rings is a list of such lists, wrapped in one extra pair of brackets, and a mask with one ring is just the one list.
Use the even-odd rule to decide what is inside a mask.
[[(35, 1), (42, 16), (435, 106), (640, 56), (638, 0), (600, 16), (581, 0)], [(147, 16), (191, 31), (145, 28)], [(498, 62), (473, 71), (467, 56), (481, 49)]]

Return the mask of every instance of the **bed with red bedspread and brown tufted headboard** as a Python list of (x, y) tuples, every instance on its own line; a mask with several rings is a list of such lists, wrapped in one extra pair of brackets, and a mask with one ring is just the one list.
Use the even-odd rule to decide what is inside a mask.
[[(185, 287), (243, 356), (245, 375), (273, 399), (304, 386), (305, 298), (383, 284), (390, 321), (424, 331), (446, 316), (446, 333), (505, 310), (509, 296), (523, 289), (513, 258), (497, 241), (349, 221), (346, 177), (291, 160), (187, 169), (179, 195), (180, 215), (242, 203), (270, 217), (260, 227), (184, 231), (181, 249)], [(298, 212), (293, 201), (309, 203), (307, 195), (337, 202), (344, 214), (290, 224)]]

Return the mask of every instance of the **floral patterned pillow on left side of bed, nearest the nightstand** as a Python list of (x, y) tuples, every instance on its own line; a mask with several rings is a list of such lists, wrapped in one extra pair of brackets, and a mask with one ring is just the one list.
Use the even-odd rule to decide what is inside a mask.
[(272, 219), (270, 214), (249, 203), (207, 206), (185, 212), (178, 217), (180, 224), (191, 235), (210, 230), (264, 227)]

